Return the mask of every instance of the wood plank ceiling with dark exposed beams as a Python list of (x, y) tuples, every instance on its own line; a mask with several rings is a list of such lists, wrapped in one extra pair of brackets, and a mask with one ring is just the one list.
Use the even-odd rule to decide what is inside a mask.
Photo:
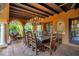
[(10, 17), (49, 17), (73, 8), (79, 8), (79, 3), (10, 3)]

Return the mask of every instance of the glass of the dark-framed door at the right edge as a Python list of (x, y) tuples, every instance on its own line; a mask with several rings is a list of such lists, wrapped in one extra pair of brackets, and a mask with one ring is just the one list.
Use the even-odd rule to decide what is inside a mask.
[(79, 20), (75, 19), (71, 22), (71, 42), (79, 44)]

